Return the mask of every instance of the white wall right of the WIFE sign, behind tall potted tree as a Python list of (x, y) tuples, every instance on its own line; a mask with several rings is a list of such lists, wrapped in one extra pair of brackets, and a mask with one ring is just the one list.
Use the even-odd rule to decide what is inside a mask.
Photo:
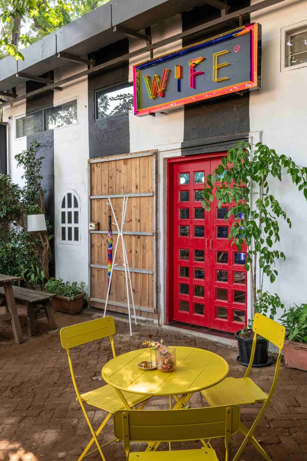
[[(258, 2), (252, 2), (258, 3)], [(307, 67), (281, 71), (281, 28), (307, 20), (307, 2), (287, 0), (251, 16), (262, 25), (262, 88), (250, 93), (250, 130), (262, 130), (262, 142), (299, 165), (307, 165)], [(292, 228), (282, 222), (280, 244), (286, 261), (278, 261), (278, 278), (265, 289), (278, 293), (285, 306), (307, 300), (307, 202), (291, 178), (271, 182), (272, 193), (288, 214)], [(266, 277), (265, 277), (265, 280)], [(278, 315), (279, 317), (279, 315)]]

